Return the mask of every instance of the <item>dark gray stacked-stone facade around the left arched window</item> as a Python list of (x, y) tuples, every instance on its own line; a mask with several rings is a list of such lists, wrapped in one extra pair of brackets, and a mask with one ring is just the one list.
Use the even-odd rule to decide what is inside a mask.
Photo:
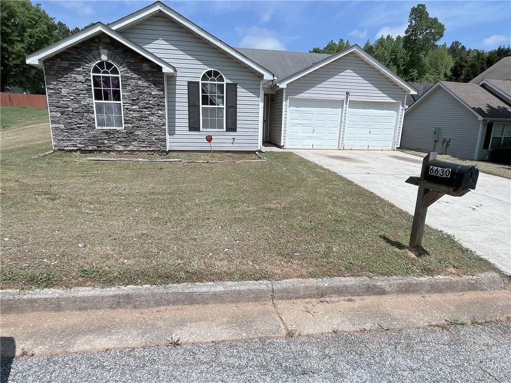
[[(96, 129), (90, 70), (100, 61), (121, 74), (124, 129)], [(56, 150), (167, 150), (161, 67), (105, 34), (44, 61)]]

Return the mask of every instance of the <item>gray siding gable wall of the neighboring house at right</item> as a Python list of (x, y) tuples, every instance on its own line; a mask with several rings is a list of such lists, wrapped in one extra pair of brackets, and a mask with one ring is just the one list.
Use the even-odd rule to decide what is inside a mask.
[[(433, 131), (440, 128), (440, 139), (435, 145)], [(448, 154), (473, 159), (479, 120), (469, 109), (443, 88), (437, 87), (420, 104), (405, 114), (401, 147), (444, 153), (444, 138), (451, 139)], [(484, 132), (481, 137), (484, 139)]]

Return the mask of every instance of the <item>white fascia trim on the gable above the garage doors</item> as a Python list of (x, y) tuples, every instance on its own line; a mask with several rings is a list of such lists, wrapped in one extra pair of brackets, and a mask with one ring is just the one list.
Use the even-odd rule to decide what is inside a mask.
[(375, 60), (373, 57), (368, 55), (360, 46), (353, 45), (349, 48), (345, 49), (344, 51), (341, 51), (335, 55), (332, 55), (330, 57), (327, 57), (326, 59), (323, 59), (308, 68), (301, 70), (294, 75), (289, 76), (287, 79), (283, 79), (280, 82), (277, 82), (276, 85), (280, 88), (285, 88), (287, 84), (289, 84), (292, 81), (295, 81), (296, 79), (299, 79), (300, 77), (303, 77), (305, 75), (308, 75), (312, 71), (321, 68), (324, 65), (330, 64), (332, 61), (335, 61), (349, 53), (355, 52), (360, 58), (362, 58), (364, 61), (366, 61), (368, 64), (374, 66), (376, 69), (378, 69), (380, 72), (382, 72), (385, 76), (387, 76), (390, 80), (392, 80), (394, 83), (398, 84), (401, 88), (405, 89), (407, 92), (410, 92), (410, 94), (417, 94), (417, 91), (412, 88), (410, 85), (407, 84), (406, 81), (402, 80), (398, 76), (394, 75), (385, 65)]

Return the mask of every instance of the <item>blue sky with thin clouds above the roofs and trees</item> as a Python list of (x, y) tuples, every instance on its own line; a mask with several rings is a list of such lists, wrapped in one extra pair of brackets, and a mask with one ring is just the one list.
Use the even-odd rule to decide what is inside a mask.
[[(33, 3), (39, 3), (37, 0)], [(69, 27), (93, 21), (111, 22), (153, 1), (40, 1), (43, 9)], [(380, 35), (403, 34), (408, 1), (189, 1), (165, 4), (231, 46), (307, 52), (330, 40), (349, 39), (363, 45)], [(471, 48), (490, 50), (509, 44), (511, 2), (424, 2), (431, 16), (446, 26), (441, 42), (460, 40)]]

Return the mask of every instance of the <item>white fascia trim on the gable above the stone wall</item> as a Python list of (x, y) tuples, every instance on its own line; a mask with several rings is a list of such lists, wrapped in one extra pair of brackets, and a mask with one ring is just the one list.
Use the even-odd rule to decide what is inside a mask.
[(71, 36), (68, 36), (60, 41), (57, 41), (56, 43), (49, 45), (29, 56), (27, 56), (27, 64), (34, 65), (34, 66), (41, 66), (42, 62), (52, 56), (55, 56), (59, 52), (62, 52), (66, 50), (68, 47), (71, 47), (73, 45), (78, 44), (79, 42), (82, 42), (92, 36), (96, 36), (100, 33), (105, 33), (106, 35), (110, 36), (114, 40), (119, 41), (120, 43), (126, 45), (136, 53), (140, 54), (141, 56), (145, 57), (146, 59), (154, 62), (155, 64), (161, 66), (163, 73), (166, 73), (167, 75), (175, 75), (176, 74), (176, 68), (170, 65), (168, 62), (165, 62), (164, 60), (161, 60), (160, 58), (153, 55), (151, 52), (145, 50), (142, 46), (135, 44), (131, 40), (128, 40), (126, 37), (122, 36), (121, 34), (111, 30), (106, 25), (104, 25), (102, 22), (97, 22), (95, 25), (92, 25), (88, 28), (85, 28), (81, 30), (80, 32), (77, 32)]

